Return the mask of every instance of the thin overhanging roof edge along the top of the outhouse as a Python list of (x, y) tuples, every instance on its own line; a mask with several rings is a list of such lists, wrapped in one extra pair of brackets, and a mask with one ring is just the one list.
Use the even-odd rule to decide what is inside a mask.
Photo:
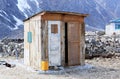
[(77, 13), (77, 12), (67, 12), (67, 11), (41, 11), (41, 12), (38, 12), (30, 17), (28, 17), (27, 19), (23, 20), (23, 22), (31, 19), (32, 17), (38, 15), (38, 14), (41, 14), (41, 15), (44, 15), (44, 14), (47, 14), (47, 13), (57, 13), (57, 14), (64, 14), (64, 15), (77, 15), (77, 16), (83, 16), (83, 17), (87, 17), (89, 14), (83, 14), (83, 13)]

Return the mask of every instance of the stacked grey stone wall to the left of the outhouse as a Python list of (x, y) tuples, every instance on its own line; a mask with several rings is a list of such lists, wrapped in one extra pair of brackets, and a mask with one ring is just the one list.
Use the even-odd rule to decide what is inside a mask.
[(2, 41), (0, 42), (0, 53), (3, 56), (15, 56), (23, 57), (24, 55), (24, 44), (23, 42), (14, 41)]

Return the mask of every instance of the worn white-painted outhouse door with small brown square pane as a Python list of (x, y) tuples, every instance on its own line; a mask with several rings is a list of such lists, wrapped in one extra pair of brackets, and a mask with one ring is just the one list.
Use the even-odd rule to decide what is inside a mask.
[(61, 65), (60, 21), (48, 21), (49, 66)]

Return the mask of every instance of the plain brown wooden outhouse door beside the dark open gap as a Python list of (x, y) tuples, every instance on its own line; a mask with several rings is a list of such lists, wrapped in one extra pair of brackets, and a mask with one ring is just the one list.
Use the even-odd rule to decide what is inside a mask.
[(77, 22), (68, 23), (68, 65), (80, 65), (80, 26)]

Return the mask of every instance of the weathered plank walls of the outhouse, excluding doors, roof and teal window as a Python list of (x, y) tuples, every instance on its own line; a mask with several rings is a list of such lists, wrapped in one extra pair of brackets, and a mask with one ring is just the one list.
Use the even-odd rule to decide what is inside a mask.
[[(85, 27), (83, 17), (48, 14), (34, 16), (24, 22), (24, 63), (35, 69), (40, 69), (41, 60), (48, 60), (48, 20), (61, 20), (61, 63), (65, 65), (65, 27), (64, 22), (80, 22), (80, 63), (84, 65), (85, 51)], [(42, 19), (41, 19), (42, 17)], [(77, 19), (76, 19), (77, 18)], [(46, 21), (45, 21), (46, 20)], [(32, 32), (32, 43), (27, 42), (27, 32)]]

